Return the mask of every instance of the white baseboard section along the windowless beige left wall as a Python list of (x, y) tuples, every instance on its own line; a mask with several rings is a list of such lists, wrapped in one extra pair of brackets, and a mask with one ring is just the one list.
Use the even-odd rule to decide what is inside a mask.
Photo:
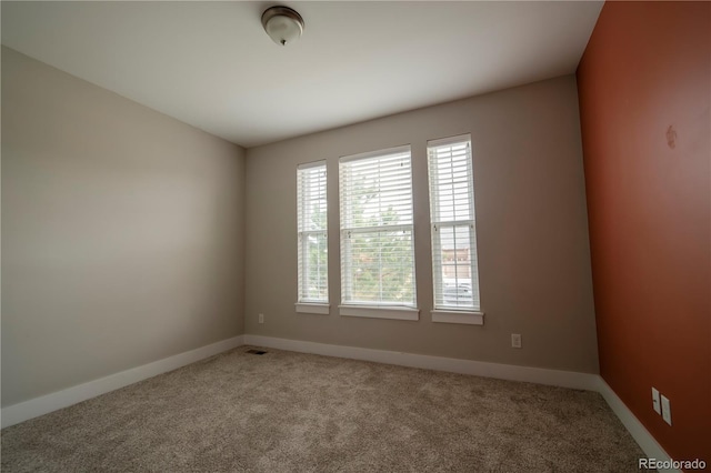
[(72, 404), (106, 394), (110, 391), (128, 386), (129, 384), (143, 381), (148, 378), (152, 378), (168, 371), (177, 370), (178, 368), (194, 363), (196, 361), (203, 360), (243, 344), (244, 335), (234, 336), (189, 352), (168, 356), (142, 366), (132, 368), (130, 370), (121, 371), (120, 373), (89, 381), (88, 383), (79, 384), (73, 388), (2, 407), (2, 411), (0, 412), (0, 425), (2, 425), (2, 427), (7, 427), (59, 409), (68, 407)]

